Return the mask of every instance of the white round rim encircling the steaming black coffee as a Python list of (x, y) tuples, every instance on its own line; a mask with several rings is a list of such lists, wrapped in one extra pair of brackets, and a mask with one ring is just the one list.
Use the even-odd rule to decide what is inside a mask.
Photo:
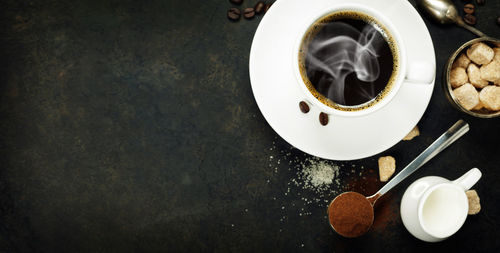
[[(355, 110), (355, 111), (343, 111), (343, 110), (338, 110), (335, 108), (332, 108), (321, 101), (319, 101), (316, 97), (314, 97), (313, 94), (308, 90), (306, 87), (304, 80), (302, 79), (302, 75), (300, 74), (299, 70), (299, 50), (300, 46), (302, 45), (302, 40), (304, 38), (304, 35), (307, 33), (309, 28), (319, 19), (325, 17), (328, 14), (338, 12), (338, 11), (343, 11), (343, 10), (350, 10), (350, 11), (359, 11), (362, 12), (368, 16), (373, 17), (377, 22), (379, 22), (381, 25), (383, 25), (388, 32), (390, 33), (391, 37), (396, 42), (396, 52), (398, 53), (398, 60), (399, 60), (399, 66), (398, 66), (398, 73), (397, 76), (394, 80), (394, 85), (392, 89), (389, 91), (388, 94), (385, 95), (382, 100), (376, 102), (375, 104), (369, 106), (366, 109), (361, 109), (361, 110)], [(299, 30), (299, 34), (297, 36), (297, 39), (295, 40), (295, 44), (293, 46), (292, 50), (292, 68), (293, 72), (297, 81), (297, 84), (300, 86), (300, 89), (302, 90), (302, 93), (306, 96), (306, 101), (309, 103), (318, 106), (321, 111), (329, 114), (329, 115), (337, 115), (337, 116), (346, 116), (346, 117), (359, 117), (359, 116), (365, 116), (370, 113), (373, 113), (381, 108), (383, 108), (385, 105), (387, 105), (398, 93), (401, 85), (404, 83), (404, 78), (406, 75), (406, 66), (407, 66), (407, 60), (406, 60), (406, 48), (404, 46), (403, 39), (397, 29), (395, 29), (394, 25), (388, 21), (388, 19), (379, 11), (362, 5), (362, 4), (357, 4), (357, 3), (347, 3), (347, 4), (338, 4), (334, 5), (330, 8), (323, 9), (322, 11), (316, 12), (314, 15), (311, 15), (310, 18), (307, 19), (308, 22), (306, 22), (301, 29)]]

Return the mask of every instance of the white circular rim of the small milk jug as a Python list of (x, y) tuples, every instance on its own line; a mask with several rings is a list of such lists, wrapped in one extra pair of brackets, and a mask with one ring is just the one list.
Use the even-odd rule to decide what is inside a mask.
[(439, 235), (439, 234), (435, 234), (432, 231), (430, 231), (427, 228), (427, 226), (425, 225), (425, 223), (423, 222), (423, 214), (422, 213), (423, 213), (423, 209), (424, 209), (424, 203), (427, 200), (427, 198), (429, 197), (429, 195), (431, 195), (431, 193), (433, 193), (437, 188), (440, 188), (440, 187), (450, 187), (450, 188), (453, 188), (453, 189), (461, 192), (462, 196), (463, 196), (462, 201), (466, 204), (467, 207), (469, 206), (469, 202), (467, 200), (467, 196), (465, 195), (465, 191), (462, 188), (460, 188), (458, 185), (455, 185), (451, 182), (444, 182), (444, 183), (439, 183), (439, 184), (431, 186), (429, 189), (427, 189), (425, 191), (425, 193), (420, 198), (419, 203), (418, 203), (418, 211), (417, 211), (418, 223), (420, 224), (420, 226), (422, 227), (424, 232), (429, 234), (430, 236), (435, 237), (435, 238), (439, 238), (439, 239), (445, 239), (445, 238), (452, 236), (458, 230), (460, 230), (462, 225), (465, 223), (465, 220), (467, 219), (468, 208), (464, 209), (463, 214), (460, 217), (460, 221), (453, 226), (452, 230), (450, 230), (450, 231), (452, 231), (451, 233)]

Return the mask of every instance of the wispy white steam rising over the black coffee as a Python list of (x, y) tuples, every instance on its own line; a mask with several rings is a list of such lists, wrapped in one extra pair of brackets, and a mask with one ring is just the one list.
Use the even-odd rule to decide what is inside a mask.
[(379, 92), (372, 83), (380, 75), (379, 49), (387, 42), (375, 26), (365, 24), (362, 29), (341, 21), (320, 24), (321, 32), (308, 46), (308, 76), (321, 73), (316, 74), (316, 89), (339, 104), (346, 104), (344, 89), (350, 85), (346, 77), (351, 74), (361, 81), (363, 88), (357, 89), (357, 95), (365, 101)]

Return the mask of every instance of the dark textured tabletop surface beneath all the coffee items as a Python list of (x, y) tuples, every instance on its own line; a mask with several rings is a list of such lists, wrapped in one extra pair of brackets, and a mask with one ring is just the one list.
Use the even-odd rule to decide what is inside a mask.
[[(500, 1), (487, 2), (477, 8), (477, 27), (500, 37)], [(472, 34), (425, 19), (438, 81), (422, 134), (383, 154), (401, 169), (457, 119), (470, 132), (380, 203), (370, 233), (348, 240), (331, 231), (324, 204), (303, 201), (314, 192), (285, 194), (309, 156), (260, 114), (248, 53), (262, 17), (231, 23), (230, 7), (216, 0), (0, 3), (1, 252), (500, 249), (500, 119), (460, 113), (441, 88), (447, 57)], [(340, 172), (343, 187), (330, 197), (373, 193), (377, 157), (335, 162), (354, 172)], [(404, 189), (424, 175), (456, 178), (472, 167), (483, 171), (475, 186), (481, 213), (442, 243), (414, 239), (399, 218)]]

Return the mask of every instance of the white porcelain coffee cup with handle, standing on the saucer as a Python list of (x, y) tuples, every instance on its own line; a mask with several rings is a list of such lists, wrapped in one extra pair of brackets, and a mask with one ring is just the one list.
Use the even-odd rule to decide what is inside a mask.
[[(304, 80), (300, 73), (299, 50), (301, 48), (305, 34), (309, 30), (309, 28), (316, 23), (316, 21), (320, 20), (326, 15), (341, 11), (355, 11), (370, 16), (378, 23), (380, 23), (383, 27), (385, 27), (390, 34), (390, 37), (395, 41), (397, 52), (396, 57), (399, 61), (399, 64), (397, 67), (395, 67), (397, 69), (397, 74), (393, 81), (392, 88), (378, 102), (373, 103), (371, 106), (367, 106), (363, 109), (350, 110), (348, 106), (342, 106), (343, 108), (347, 108), (347, 110), (338, 109), (321, 102), (309, 91), (309, 88), (304, 83)], [(385, 15), (370, 7), (354, 3), (336, 4), (329, 9), (322, 10), (321, 12), (313, 15), (308, 22), (300, 27), (298, 38), (293, 47), (292, 64), (297, 83), (305, 96), (304, 100), (309, 102), (310, 105), (317, 106), (320, 111), (327, 113), (330, 116), (340, 117), (358, 117), (373, 113), (387, 105), (396, 96), (399, 88), (404, 83), (411, 82), (425, 85), (431, 84), (435, 78), (434, 63), (422, 61), (408, 62), (404, 40), (402, 39), (398, 30), (395, 28), (394, 24)], [(353, 106), (352, 108), (360, 108), (360, 106)]]

